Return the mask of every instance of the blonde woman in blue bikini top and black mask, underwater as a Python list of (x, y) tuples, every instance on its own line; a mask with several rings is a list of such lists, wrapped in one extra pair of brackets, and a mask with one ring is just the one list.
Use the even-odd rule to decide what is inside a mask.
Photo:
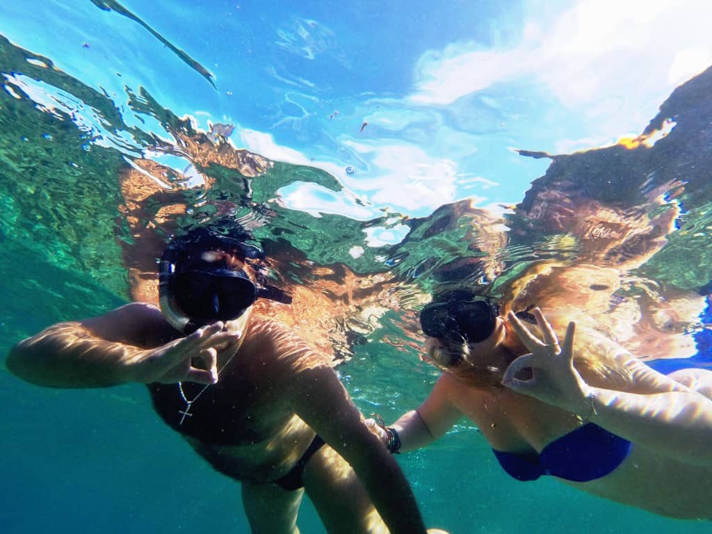
[(437, 296), (420, 322), (443, 374), (417, 409), (372, 429), (409, 451), (465, 416), (520, 481), (554, 476), (671, 518), (712, 519), (712, 372), (661, 375), (580, 306), (558, 304), (500, 315), (472, 290)]

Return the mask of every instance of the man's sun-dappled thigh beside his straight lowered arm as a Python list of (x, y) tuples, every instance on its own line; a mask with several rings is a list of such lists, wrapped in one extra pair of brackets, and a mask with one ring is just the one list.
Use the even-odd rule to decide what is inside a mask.
[(330, 446), (315, 452), (302, 481), (329, 534), (388, 533), (356, 473)]

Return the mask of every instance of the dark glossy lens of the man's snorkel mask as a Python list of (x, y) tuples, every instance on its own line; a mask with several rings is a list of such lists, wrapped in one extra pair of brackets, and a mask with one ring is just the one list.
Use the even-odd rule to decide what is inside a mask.
[(187, 317), (201, 323), (239, 318), (255, 300), (255, 286), (247, 278), (199, 271), (175, 278), (175, 304)]

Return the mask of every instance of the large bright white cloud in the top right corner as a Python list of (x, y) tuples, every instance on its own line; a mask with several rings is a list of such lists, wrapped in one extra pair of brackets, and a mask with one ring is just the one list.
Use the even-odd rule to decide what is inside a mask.
[(581, 0), (557, 20), (530, 21), (515, 48), (456, 43), (426, 53), (410, 99), (447, 105), (521, 79), (567, 106), (659, 99), (712, 63), (710, 20), (707, 0)]

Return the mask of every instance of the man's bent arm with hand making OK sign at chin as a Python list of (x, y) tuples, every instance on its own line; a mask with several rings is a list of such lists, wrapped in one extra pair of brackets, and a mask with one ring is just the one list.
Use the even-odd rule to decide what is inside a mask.
[[(229, 340), (222, 323), (165, 345), (169, 327), (153, 305), (132, 303), (100, 317), (58, 323), (13, 347), (6, 366), (21, 379), (46, 387), (109, 387), (126, 382), (216, 381), (216, 349)], [(175, 336), (175, 333), (173, 333)], [(206, 370), (192, 366), (201, 357)]]

